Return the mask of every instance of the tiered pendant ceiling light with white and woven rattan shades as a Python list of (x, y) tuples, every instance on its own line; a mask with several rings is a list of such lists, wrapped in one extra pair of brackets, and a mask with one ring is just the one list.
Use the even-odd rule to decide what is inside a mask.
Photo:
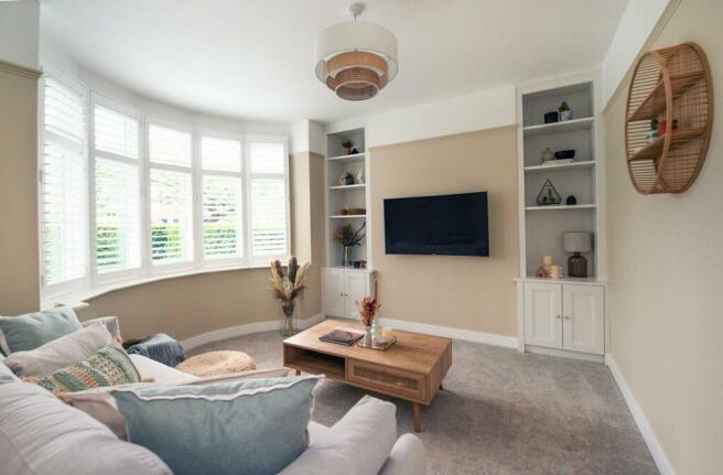
[(357, 21), (364, 3), (353, 3), (354, 21), (327, 28), (316, 39), (315, 73), (338, 97), (370, 99), (397, 75), (397, 39), (384, 26)]

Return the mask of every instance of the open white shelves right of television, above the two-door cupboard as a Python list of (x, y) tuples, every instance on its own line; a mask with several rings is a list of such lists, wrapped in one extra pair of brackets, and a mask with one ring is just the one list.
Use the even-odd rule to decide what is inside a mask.
[[(551, 85), (548, 85), (551, 86)], [(551, 87), (529, 86), (519, 88), (520, 118), (520, 262), (521, 277), (535, 277), (542, 256), (550, 255), (554, 263), (566, 268), (570, 257), (562, 246), (565, 231), (590, 231), (594, 235), (595, 249), (585, 255), (589, 261), (589, 278), (600, 276), (598, 262), (598, 140), (597, 114), (595, 109), (594, 77), (572, 84)], [(562, 101), (572, 110), (570, 120), (544, 123), (544, 115), (557, 111)], [(574, 162), (542, 163), (546, 148), (552, 152), (574, 150)], [(561, 203), (540, 205), (537, 197), (547, 181), (550, 181)], [(569, 196), (576, 204), (568, 205)], [(566, 270), (566, 269), (565, 269)], [(566, 274), (566, 272), (565, 272)]]

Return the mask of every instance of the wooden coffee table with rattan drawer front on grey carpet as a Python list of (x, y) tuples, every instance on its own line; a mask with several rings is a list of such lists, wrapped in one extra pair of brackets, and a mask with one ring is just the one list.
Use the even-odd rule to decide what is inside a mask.
[(349, 321), (326, 320), (283, 341), (283, 365), (346, 382), (412, 403), (414, 431), (421, 432), (420, 404), (428, 406), (452, 366), (452, 341), (393, 331), (397, 343), (384, 352), (322, 342), (336, 327), (357, 328)]

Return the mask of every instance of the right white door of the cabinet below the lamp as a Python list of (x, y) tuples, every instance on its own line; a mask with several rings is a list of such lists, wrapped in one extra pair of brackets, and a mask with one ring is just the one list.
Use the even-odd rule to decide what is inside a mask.
[(602, 287), (564, 284), (562, 288), (562, 347), (605, 353), (605, 303)]

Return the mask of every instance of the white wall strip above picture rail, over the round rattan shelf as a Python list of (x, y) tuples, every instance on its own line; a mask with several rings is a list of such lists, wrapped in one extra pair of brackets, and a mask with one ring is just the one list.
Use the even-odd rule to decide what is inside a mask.
[(669, 3), (680, 0), (629, 0), (603, 60), (603, 107), (652, 33)]

